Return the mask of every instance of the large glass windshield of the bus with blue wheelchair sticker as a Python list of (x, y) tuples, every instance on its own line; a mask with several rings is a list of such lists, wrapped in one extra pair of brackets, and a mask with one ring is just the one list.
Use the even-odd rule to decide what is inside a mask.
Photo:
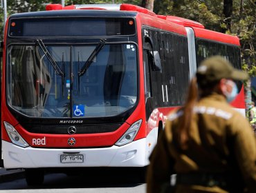
[(97, 45), (46, 45), (58, 74), (39, 45), (8, 47), (8, 105), (33, 117), (115, 116), (137, 101), (137, 48), (105, 44), (86, 72)]

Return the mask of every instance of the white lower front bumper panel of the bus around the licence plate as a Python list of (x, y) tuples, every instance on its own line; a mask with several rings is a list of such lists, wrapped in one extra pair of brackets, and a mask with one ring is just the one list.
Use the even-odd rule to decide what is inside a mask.
[[(80, 149), (21, 148), (2, 141), (3, 165), (5, 168), (143, 167), (149, 164), (148, 157), (155, 145), (155, 137), (156, 130), (152, 130), (147, 138), (120, 147)], [(84, 163), (61, 163), (60, 155), (64, 152), (83, 154)]]

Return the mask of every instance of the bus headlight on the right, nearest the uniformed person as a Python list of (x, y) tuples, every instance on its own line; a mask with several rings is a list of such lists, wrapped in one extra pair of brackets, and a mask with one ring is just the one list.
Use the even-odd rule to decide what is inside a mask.
[(138, 130), (140, 129), (140, 125), (143, 122), (143, 120), (138, 120), (134, 124), (131, 125), (131, 127), (121, 136), (121, 138), (116, 142), (115, 145), (121, 146), (125, 145), (127, 143), (131, 143), (131, 141), (134, 140), (136, 134), (138, 133)]

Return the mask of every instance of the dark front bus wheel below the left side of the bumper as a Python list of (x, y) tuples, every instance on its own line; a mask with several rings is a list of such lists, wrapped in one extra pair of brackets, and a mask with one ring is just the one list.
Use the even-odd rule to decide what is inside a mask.
[(27, 168), (25, 169), (25, 176), (28, 185), (41, 185), (44, 182), (44, 169)]

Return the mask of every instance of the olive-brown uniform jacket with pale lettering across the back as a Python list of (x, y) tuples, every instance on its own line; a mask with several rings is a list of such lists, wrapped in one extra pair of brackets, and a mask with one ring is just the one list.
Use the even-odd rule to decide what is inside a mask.
[[(256, 192), (256, 143), (250, 124), (219, 94), (201, 99), (194, 107), (188, 150), (177, 145), (182, 110), (168, 116), (165, 129), (150, 156), (147, 192), (161, 192), (171, 174), (230, 174), (241, 177), (249, 192)], [(240, 181), (239, 183), (242, 183)], [(184, 189), (185, 188), (185, 189)], [(176, 192), (226, 192), (220, 187), (178, 185)]]

